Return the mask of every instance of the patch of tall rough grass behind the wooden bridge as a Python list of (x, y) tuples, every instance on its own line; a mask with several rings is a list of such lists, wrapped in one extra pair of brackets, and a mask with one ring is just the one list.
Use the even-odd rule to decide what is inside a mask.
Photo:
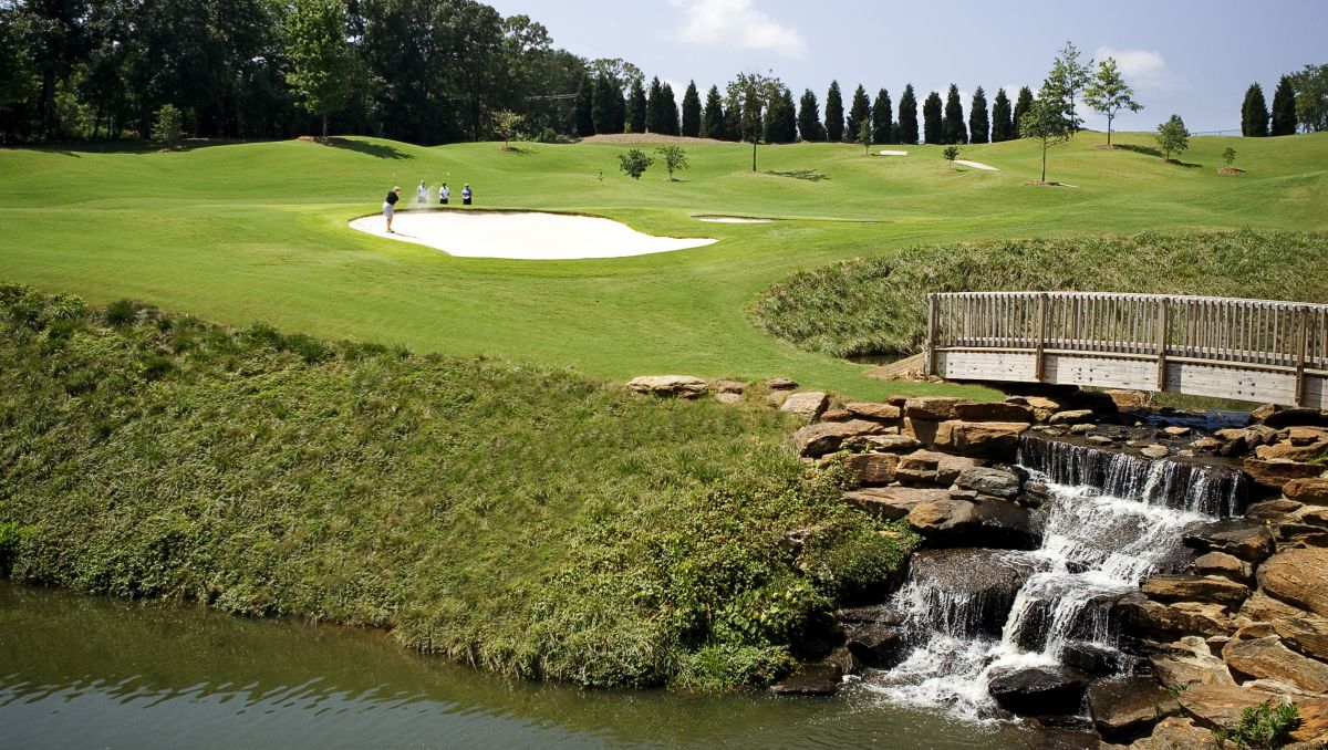
[(926, 336), (927, 292), (1096, 291), (1328, 301), (1328, 235), (1142, 232), (918, 246), (794, 273), (753, 307), (797, 346), (854, 357), (911, 353)]

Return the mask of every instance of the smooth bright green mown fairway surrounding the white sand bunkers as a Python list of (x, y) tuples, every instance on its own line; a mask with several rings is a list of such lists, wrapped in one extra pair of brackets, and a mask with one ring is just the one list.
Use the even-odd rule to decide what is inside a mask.
[[(999, 167), (952, 171), (936, 146), (863, 157), (861, 146), (689, 145), (665, 182), (618, 171), (627, 146), (494, 143), (421, 149), (356, 139), (0, 151), (0, 279), (134, 297), (244, 325), (571, 366), (599, 378), (645, 373), (793, 377), (855, 397), (947, 388), (880, 384), (865, 368), (801, 352), (758, 331), (749, 305), (790, 273), (916, 243), (1074, 238), (1171, 228), (1328, 228), (1328, 135), (1194, 138), (1181, 165), (1147, 134), (1104, 150), (1082, 133), (1049, 154), (1031, 142), (969, 146)], [(1242, 177), (1219, 177), (1235, 146)], [(604, 171), (603, 182), (596, 173)], [(477, 207), (610, 216), (657, 235), (713, 236), (688, 251), (614, 260), (458, 259), (347, 227), (401, 185), (469, 182)], [(696, 214), (784, 219), (714, 224)], [(983, 288), (983, 279), (972, 280)]]

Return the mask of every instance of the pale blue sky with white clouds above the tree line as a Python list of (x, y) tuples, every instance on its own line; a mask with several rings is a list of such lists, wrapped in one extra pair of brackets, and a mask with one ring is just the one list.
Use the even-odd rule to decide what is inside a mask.
[[(1138, 114), (1117, 130), (1154, 130), (1179, 114), (1191, 133), (1240, 130), (1250, 84), (1272, 104), (1278, 78), (1328, 64), (1328, 0), (1077, 0), (894, 3), (888, 0), (486, 0), (505, 16), (542, 23), (554, 45), (586, 58), (620, 57), (673, 85), (709, 86), (740, 72), (773, 73), (822, 110), (830, 81), (845, 109), (861, 84), (894, 105), (904, 84), (919, 104), (959, 86), (964, 113), (983, 86), (1035, 92), (1066, 41), (1082, 61), (1116, 58)], [(1094, 64), (1096, 68), (1096, 64)], [(563, 92), (559, 92), (563, 93)], [(1081, 108), (1086, 109), (1086, 108)], [(1088, 127), (1106, 119), (1088, 113)]]

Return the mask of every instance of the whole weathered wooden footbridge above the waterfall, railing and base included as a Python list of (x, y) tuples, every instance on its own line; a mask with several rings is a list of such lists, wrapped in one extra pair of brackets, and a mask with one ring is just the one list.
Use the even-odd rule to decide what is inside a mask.
[(1328, 305), (1094, 292), (927, 296), (928, 374), (1328, 409)]

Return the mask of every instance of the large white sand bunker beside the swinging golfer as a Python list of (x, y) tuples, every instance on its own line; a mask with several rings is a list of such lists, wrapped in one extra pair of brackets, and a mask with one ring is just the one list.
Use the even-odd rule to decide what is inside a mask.
[(351, 228), (413, 242), (463, 258), (571, 260), (649, 255), (712, 244), (713, 239), (657, 238), (595, 216), (466, 208), (397, 211), (388, 234), (381, 214), (361, 216)]

